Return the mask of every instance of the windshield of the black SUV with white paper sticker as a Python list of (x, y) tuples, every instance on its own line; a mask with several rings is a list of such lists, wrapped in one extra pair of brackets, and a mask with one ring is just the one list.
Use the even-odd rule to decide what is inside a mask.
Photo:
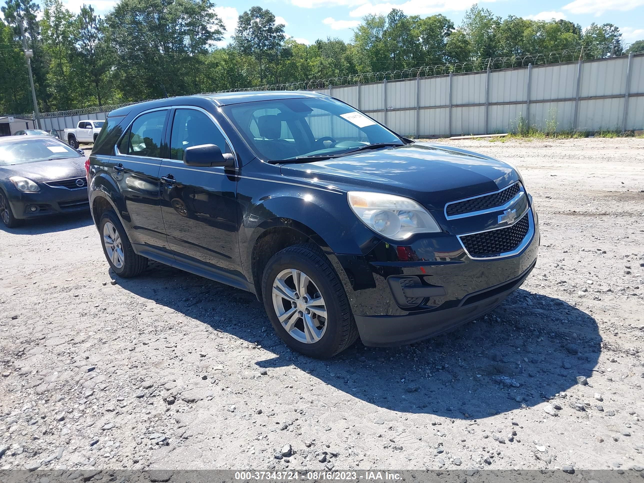
[(258, 157), (269, 161), (403, 144), (363, 113), (330, 98), (260, 100), (223, 109)]

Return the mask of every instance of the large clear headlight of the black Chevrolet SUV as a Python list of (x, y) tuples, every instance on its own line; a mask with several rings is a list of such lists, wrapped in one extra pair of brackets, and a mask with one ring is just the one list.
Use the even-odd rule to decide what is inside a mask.
[(431, 214), (409, 198), (364, 191), (349, 191), (347, 197), (357, 217), (386, 238), (405, 240), (414, 233), (440, 232)]

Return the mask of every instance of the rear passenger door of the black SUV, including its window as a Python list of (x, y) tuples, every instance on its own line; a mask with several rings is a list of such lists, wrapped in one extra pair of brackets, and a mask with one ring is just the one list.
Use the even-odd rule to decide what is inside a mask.
[[(117, 144), (111, 174), (124, 197), (131, 242), (169, 249), (161, 215), (159, 169), (169, 109), (138, 115)], [(139, 249), (140, 251), (140, 249)]]

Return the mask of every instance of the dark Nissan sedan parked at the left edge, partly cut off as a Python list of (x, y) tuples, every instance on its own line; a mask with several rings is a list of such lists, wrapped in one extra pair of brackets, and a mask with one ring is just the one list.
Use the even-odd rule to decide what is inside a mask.
[(0, 220), (13, 228), (26, 218), (88, 209), (86, 160), (50, 136), (0, 138)]

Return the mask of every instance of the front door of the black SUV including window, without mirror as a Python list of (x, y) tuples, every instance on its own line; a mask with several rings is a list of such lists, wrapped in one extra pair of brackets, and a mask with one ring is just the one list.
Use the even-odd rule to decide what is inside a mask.
[(243, 278), (234, 172), (183, 162), (184, 150), (200, 144), (216, 144), (222, 153), (232, 153), (226, 138), (213, 118), (198, 108), (177, 108), (169, 137), (169, 158), (163, 160), (160, 171), (161, 211), (176, 260), (215, 270), (223, 278)]

